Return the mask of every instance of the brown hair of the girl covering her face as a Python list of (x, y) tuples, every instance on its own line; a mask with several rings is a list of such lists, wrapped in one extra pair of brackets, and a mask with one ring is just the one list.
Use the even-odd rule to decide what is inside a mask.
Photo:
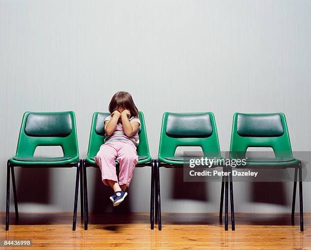
[(131, 113), (131, 117), (139, 117), (138, 109), (133, 101), (133, 98), (130, 93), (125, 91), (119, 91), (115, 93), (109, 103), (109, 112), (113, 113), (114, 110), (117, 110), (118, 107), (128, 109)]

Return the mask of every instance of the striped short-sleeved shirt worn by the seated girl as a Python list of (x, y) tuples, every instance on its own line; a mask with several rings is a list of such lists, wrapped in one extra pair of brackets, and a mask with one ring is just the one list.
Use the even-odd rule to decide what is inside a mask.
[[(110, 116), (107, 116), (106, 117), (106, 119), (104, 120), (104, 124), (105, 124), (105, 122), (106, 121), (110, 121), (111, 120), (111, 118), (112, 118), (112, 116), (110, 115)], [(137, 122), (137, 123), (139, 123), (139, 126), (140, 126), (140, 120), (139, 120), (139, 118), (137, 118), (137, 117), (131, 117), (130, 119), (129, 119), (129, 121), (132, 123), (132, 122)], [(109, 135), (107, 135), (107, 134), (105, 134), (105, 139), (104, 139), (104, 143), (107, 143), (107, 142), (109, 142), (109, 141), (111, 141), (111, 140), (129, 140), (129, 141), (131, 141), (136, 147), (138, 146), (138, 144), (139, 144), (139, 136), (138, 136), (138, 130), (139, 129), (137, 129), (137, 131), (132, 135), (132, 136), (127, 136), (126, 134), (125, 134), (125, 132), (124, 132), (124, 130), (123, 130), (123, 125), (122, 125), (122, 123), (121, 122), (118, 122), (117, 123), (117, 125), (116, 125), (116, 127), (115, 127), (115, 130), (114, 130), (114, 132), (112, 133), (112, 134), (109, 134)]]

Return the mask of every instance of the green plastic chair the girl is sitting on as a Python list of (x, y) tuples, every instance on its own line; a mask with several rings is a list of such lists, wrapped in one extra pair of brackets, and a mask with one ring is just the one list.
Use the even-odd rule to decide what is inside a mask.
[[(92, 118), (91, 130), (89, 135), (89, 143), (87, 150), (87, 157), (83, 160), (83, 188), (84, 188), (84, 230), (87, 230), (88, 224), (88, 202), (87, 202), (87, 178), (86, 168), (92, 166), (99, 168), (95, 162), (95, 156), (99, 151), (100, 146), (104, 143), (105, 128), (104, 120), (110, 113), (95, 112)], [(147, 140), (146, 126), (144, 115), (140, 111), (139, 118), (141, 126), (139, 128), (139, 145), (137, 147), (138, 163), (136, 167), (151, 166), (151, 197), (150, 197), (150, 223), (151, 229), (154, 227), (154, 161), (151, 159), (149, 153), (149, 146)], [(116, 166), (118, 166), (118, 162)]]

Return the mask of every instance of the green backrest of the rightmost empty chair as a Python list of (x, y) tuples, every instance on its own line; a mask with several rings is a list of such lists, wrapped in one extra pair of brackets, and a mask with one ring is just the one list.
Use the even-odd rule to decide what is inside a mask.
[(230, 152), (245, 156), (249, 147), (271, 147), (275, 157), (292, 157), (292, 148), (283, 113), (233, 116)]

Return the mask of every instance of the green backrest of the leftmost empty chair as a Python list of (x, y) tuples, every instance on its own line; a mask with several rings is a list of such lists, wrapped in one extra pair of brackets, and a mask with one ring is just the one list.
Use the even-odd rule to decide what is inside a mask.
[(60, 146), (65, 157), (79, 156), (74, 112), (24, 113), (16, 155), (32, 157), (38, 146)]

